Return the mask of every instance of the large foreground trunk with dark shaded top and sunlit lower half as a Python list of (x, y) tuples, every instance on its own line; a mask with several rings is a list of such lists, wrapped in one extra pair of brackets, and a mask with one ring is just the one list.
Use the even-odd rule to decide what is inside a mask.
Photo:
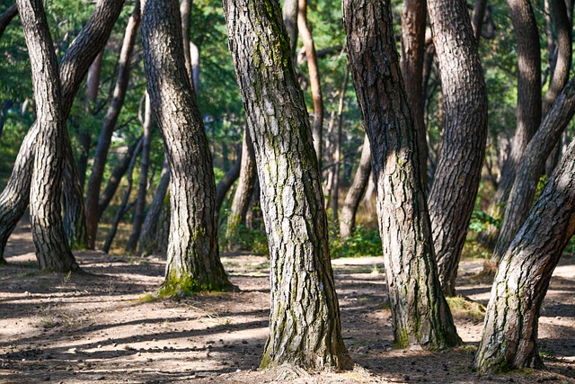
[(343, 24), (358, 103), (371, 143), (379, 232), (394, 339), (403, 347), (461, 343), (441, 291), (425, 193), (387, 0), (344, 0)]

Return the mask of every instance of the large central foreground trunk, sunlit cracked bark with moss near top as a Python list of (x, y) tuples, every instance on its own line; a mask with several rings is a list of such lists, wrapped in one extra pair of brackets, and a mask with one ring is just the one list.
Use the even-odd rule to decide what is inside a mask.
[(257, 159), (270, 248), (270, 336), (261, 368), (282, 363), (348, 368), (319, 166), (279, 4), (222, 4)]

